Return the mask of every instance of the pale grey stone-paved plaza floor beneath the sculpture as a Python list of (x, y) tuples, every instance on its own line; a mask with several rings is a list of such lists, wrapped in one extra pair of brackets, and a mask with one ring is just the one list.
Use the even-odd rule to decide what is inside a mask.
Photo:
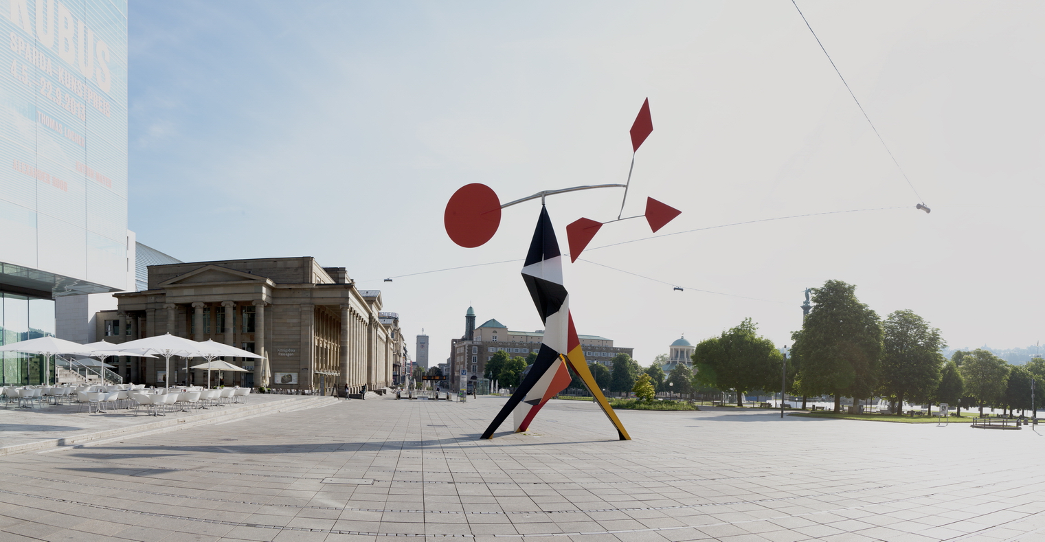
[[(0, 541), (1045, 541), (1042, 430), (381, 398), (0, 458)], [(0, 417), (4, 413), (0, 413)], [(55, 422), (51, 422), (55, 423)]]

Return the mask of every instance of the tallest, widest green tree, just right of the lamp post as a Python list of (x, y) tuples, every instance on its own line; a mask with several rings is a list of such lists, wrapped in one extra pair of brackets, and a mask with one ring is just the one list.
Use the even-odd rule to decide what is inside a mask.
[(802, 358), (803, 395), (866, 399), (876, 390), (882, 326), (878, 314), (856, 298), (856, 286), (829, 280), (813, 288), (813, 309), (793, 350)]

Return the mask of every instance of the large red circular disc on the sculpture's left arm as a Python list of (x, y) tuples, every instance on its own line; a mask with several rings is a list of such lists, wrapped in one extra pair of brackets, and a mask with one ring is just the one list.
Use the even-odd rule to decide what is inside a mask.
[(501, 226), (501, 201), (483, 184), (462, 186), (446, 203), (443, 213), (446, 234), (465, 249), (480, 246), (497, 233)]

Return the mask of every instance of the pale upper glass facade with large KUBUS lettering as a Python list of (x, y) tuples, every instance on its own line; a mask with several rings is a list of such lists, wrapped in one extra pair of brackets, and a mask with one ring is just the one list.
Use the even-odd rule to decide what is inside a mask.
[(126, 2), (6, 0), (0, 30), (0, 290), (133, 288)]

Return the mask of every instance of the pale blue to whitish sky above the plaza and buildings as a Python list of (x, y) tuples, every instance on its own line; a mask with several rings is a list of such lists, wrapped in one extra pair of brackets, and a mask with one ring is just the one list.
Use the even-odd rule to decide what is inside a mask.
[[(677, 235), (599, 249), (653, 235), (641, 219), (599, 232), (565, 269), (580, 333), (643, 364), (745, 317), (785, 345), (803, 290), (838, 279), (951, 347), (1045, 338), (1045, 4), (798, 6), (913, 189), (788, 0), (140, 0), (130, 228), (185, 261), (347, 267), (399, 312), (412, 355), (423, 328), (439, 362), (469, 305), (480, 323), (542, 327), (519, 276), (539, 203), (462, 249), (443, 230), (449, 196), (623, 183), (648, 97), (625, 215), (654, 197), (682, 211), (656, 235)], [(563, 245), (567, 223), (616, 218), (621, 196), (550, 198)], [(881, 208), (898, 209), (838, 213)], [(813, 213), (836, 214), (682, 233)]]

